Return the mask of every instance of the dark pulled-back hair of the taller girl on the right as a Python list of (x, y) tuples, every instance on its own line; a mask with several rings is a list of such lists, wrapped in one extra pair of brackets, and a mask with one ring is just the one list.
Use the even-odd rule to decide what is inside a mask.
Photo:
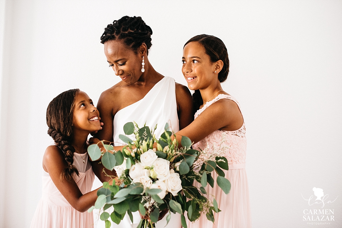
[[(220, 82), (226, 81), (229, 72), (229, 59), (227, 48), (226, 45), (224, 45), (223, 41), (220, 38), (214, 37), (213, 35), (201, 34), (196, 35), (188, 40), (184, 44), (184, 47), (190, 42), (200, 43), (205, 49), (206, 54), (210, 57), (210, 61), (212, 63), (219, 60), (223, 61), (223, 67), (222, 70), (219, 72), (218, 79)], [(203, 104), (203, 99), (199, 89), (195, 90), (193, 94), (193, 100), (194, 110), (196, 112), (199, 109), (199, 106)]]

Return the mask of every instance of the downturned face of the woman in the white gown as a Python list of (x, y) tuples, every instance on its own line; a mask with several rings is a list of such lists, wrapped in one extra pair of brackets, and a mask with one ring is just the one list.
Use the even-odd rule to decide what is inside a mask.
[(128, 85), (136, 83), (142, 75), (142, 56), (127, 47), (121, 40), (104, 43), (104, 52), (109, 67)]

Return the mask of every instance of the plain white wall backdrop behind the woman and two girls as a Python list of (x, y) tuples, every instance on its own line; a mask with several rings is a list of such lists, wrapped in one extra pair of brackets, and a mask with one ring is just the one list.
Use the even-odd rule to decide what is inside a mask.
[[(206, 33), (226, 44), (231, 67), (223, 88), (237, 98), (246, 122), (254, 228), (342, 227), (342, 1), (2, 0), (0, 6), (0, 227), (29, 227), (41, 197), (42, 155), (52, 143), (48, 103), (71, 88), (96, 103), (119, 82), (100, 36), (124, 15), (141, 16), (152, 28), (150, 62), (185, 85), (184, 43)], [(309, 205), (315, 198), (304, 200), (313, 187), (328, 195), (324, 208)], [(306, 221), (305, 209), (333, 214)]]

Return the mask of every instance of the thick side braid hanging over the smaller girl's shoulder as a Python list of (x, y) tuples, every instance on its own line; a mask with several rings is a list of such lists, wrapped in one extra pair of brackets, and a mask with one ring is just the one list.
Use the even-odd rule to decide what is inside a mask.
[(73, 180), (74, 173), (79, 176), (77, 168), (73, 165), (75, 148), (71, 145), (71, 142), (65, 136), (63, 136), (56, 130), (49, 128), (48, 134), (55, 141), (56, 146), (60, 147), (64, 153), (64, 159), (67, 163), (67, 168), (64, 169), (62, 176), (64, 176), (68, 181)]

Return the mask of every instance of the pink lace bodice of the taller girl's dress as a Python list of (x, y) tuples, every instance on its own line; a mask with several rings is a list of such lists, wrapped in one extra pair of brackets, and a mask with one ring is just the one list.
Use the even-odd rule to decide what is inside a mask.
[[(201, 109), (199, 109), (195, 113), (195, 119), (198, 115), (200, 115), (206, 108), (209, 107), (212, 103), (220, 100), (220, 99), (230, 99), (234, 101), (239, 109), (240, 105), (236, 101), (236, 99), (230, 95), (219, 94), (213, 100), (207, 102)], [(224, 156), (228, 160), (228, 164), (244, 164), (246, 163), (246, 128), (245, 128), (245, 119), (244, 123), (240, 127), (240, 129), (236, 131), (224, 131), (224, 130), (216, 130), (213, 133), (209, 134), (206, 138), (201, 141), (195, 143), (193, 145), (194, 149), (199, 150), (202, 149), (203, 152), (201, 157), (203, 160), (208, 160), (213, 156)]]

